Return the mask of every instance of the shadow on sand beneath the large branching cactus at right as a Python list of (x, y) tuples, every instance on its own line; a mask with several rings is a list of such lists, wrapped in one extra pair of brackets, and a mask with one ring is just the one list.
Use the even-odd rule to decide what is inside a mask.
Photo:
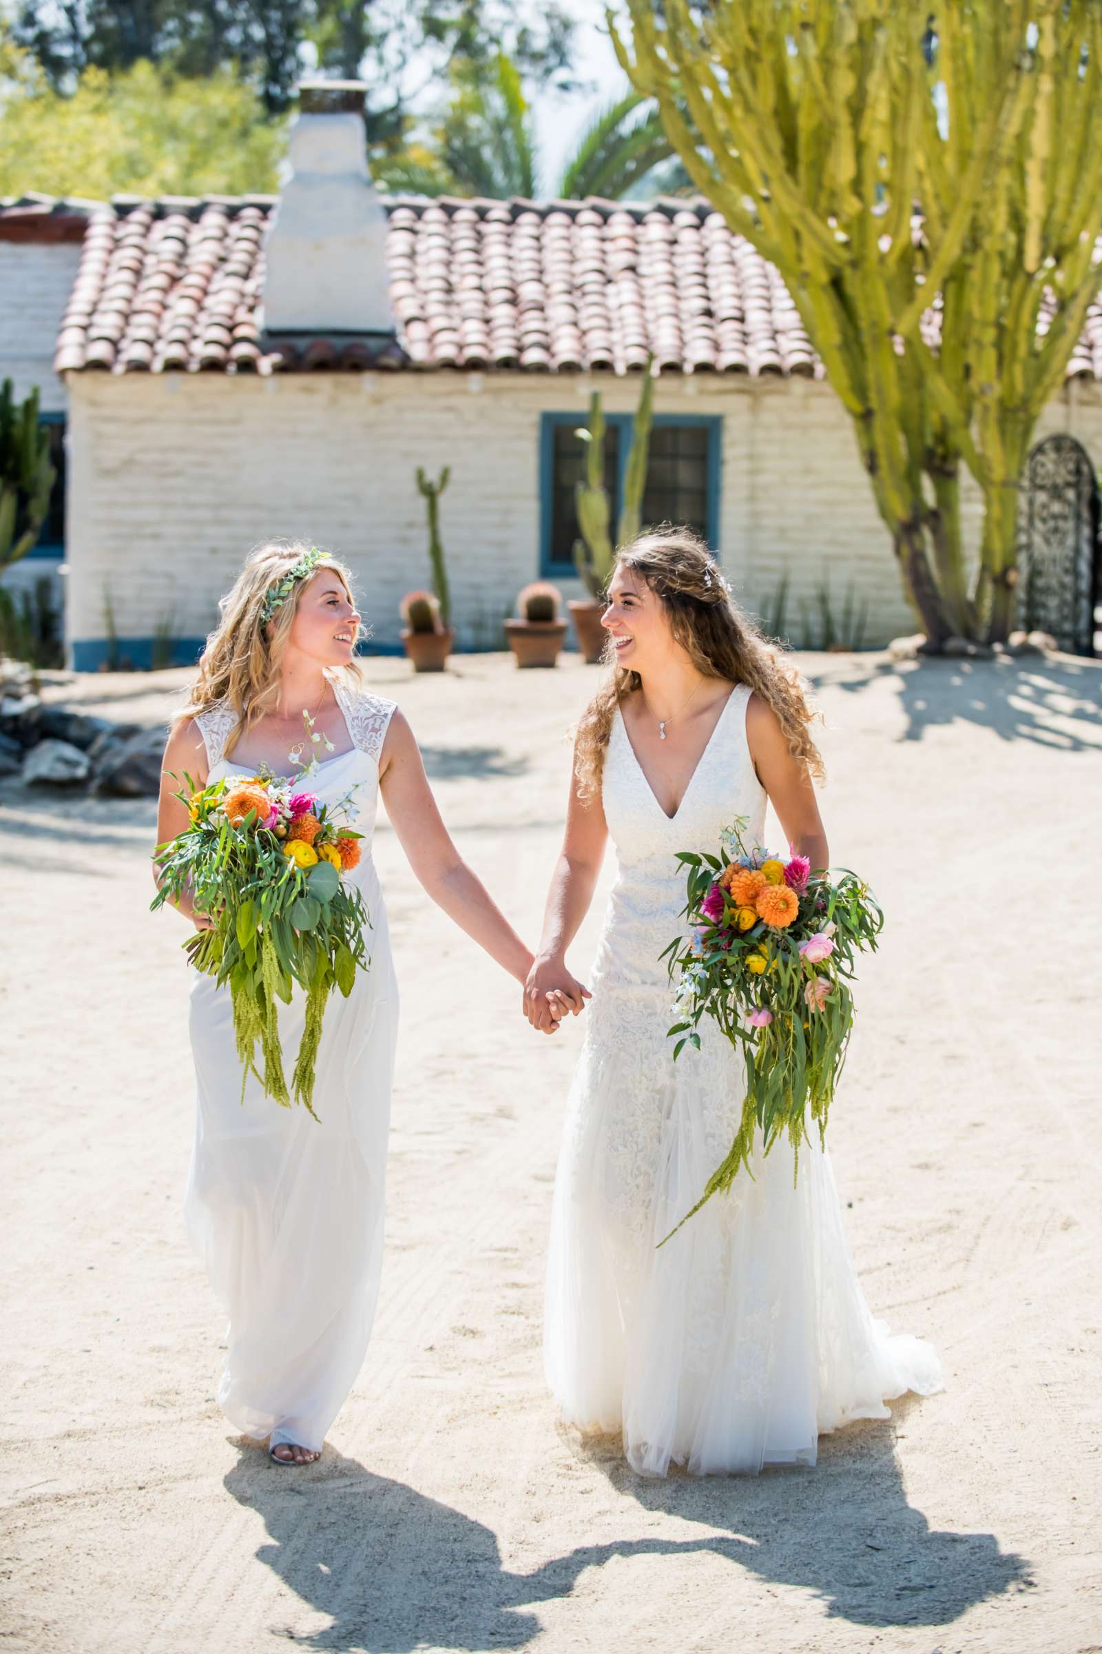
[(894, 678), (907, 715), (904, 741), (920, 741), (937, 724), (971, 723), (1003, 741), (1034, 741), (1057, 753), (1102, 748), (1102, 660), (877, 660), (818, 678), (853, 695)]

